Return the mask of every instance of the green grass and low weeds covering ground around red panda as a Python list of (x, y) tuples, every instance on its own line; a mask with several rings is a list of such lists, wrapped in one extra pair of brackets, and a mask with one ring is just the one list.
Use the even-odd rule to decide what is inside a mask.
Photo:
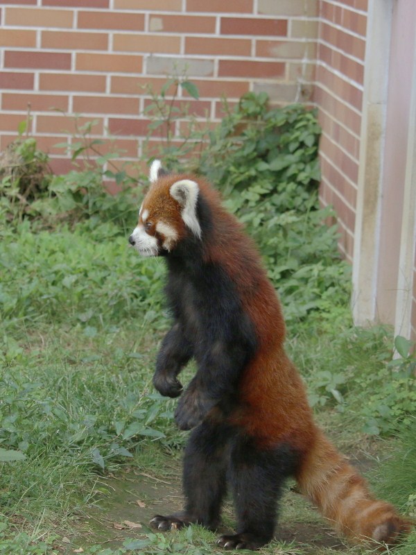
[[(200, 527), (173, 535), (142, 529), (131, 540), (126, 539), (129, 531), (123, 531), (118, 543), (102, 543), (114, 537), (111, 522), (109, 527), (100, 517), (95, 529), (91, 524), (92, 515), (116, 506), (113, 475), (124, 480), (124, 472), (130, 472), (130, 493), (143, 473), (154, 477), (155, 484), (172, 481), (176, 490), (180, 487), (187, 434), (173, 424), (175, 401), (161, 398), (151, 386), (155, 353), (168, 323), (162, 307), (162, 262), (137, 257), (115, 226), (91, 223), (71, 230), (37, 230), (28, 223), (3, 230), (0, 260), (0, 441), (3, 449), (25, 455), (21, 461), (0, 463), (0, 550), (51, 555), (82, 546), (86, 554), (103, 555), (134, 549), (220, 553), (216, 536)], [(363, 435), (370, 418), (382, 419), (377, 407), (392, 336), (380, 327), (355, 330), (347, 307), (338, 306), (332, 318), (329, 314), (311, 314), (288, 330), (288, 350), (308, 385), (318, 419), (361, 462), (381, 451), (395, 452), (390, 440)], [(369, 388), (374, 395), (370, 413)], [(387, 420), (385, 416), (383, 422)], [(404, 451), (400, 453), (390, 459), (397, 465), (406, 462)], [(401, 476), (400, 485), (388, 477), (372, 477), (376, 485), (383, 481), (384, 497), (404, 507), (406, 494), (416, 489), (411, 458), (406, 464), (390, 465), (388, 471), (388, 477)], [(398, 488), (400, 499), (395, 497)], [(156, 486), (142, 494), (156, 506), (162, 495)], [(134, 499), (129, 506), (123, 499), (119, 503), (130, 511)], [(282, 506), (285, 541), (261, 553), (364, 552), (343, 545), (299, 495), (288, 492)], [(225, 524), (234, 525), (229, 507)], [(413, 553), (406, 546), (414, 552), (415, 538), (397, 554)]]

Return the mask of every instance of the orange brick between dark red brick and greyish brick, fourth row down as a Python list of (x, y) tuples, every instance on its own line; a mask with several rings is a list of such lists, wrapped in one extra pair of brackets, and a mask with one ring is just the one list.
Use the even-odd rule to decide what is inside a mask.
[(108, 71), (113, 73), (140, 74), (142, 56), (127, 54), (92, 54), (77, 53), (76, 69), (78, 71)]

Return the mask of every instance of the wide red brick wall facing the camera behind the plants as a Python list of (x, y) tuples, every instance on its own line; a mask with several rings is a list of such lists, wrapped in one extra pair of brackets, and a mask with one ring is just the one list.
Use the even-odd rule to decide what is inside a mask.
[[(220, 97), (249, 90), (309, 99), (318, 0), (6, 0), (1, 2), (0, 148), (31, 106), (31, 132), (69, 167), (55, 144), (78, 112), (94, 135), (116, 135), (125, 158), (141, 154), (149, 97), (175, 62), (200, 90), (193, 103), (218, 121)], [(105, 147), (104, 147), (105, 148)], [(107, 147), (110, 148), (110, 147)], [(114, 147), (111, 147), (114, 148)]]

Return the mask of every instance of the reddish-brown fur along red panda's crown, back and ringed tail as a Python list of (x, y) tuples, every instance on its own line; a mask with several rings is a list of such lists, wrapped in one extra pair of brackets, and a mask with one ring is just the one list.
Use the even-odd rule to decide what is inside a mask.
[(390, 504), (374, 499), (365, 480), (315, 426), (302, 379), (284, 352), (284, 318), (275, 290), (254, 244), (223, 209), (218, 193), (196, 176), (160, 178), (146, 196), (148, 220), (161, 219), (183, 237), (186, 229), (169, 189), (185, 178), (198, 182), (213, 214), (206, 260), (220, 264), (232, 279), (257, 333), (259, 348), (243, 375), (241, 406), (232, 421), (263, 447), (286, 443), (302, 454), (296, 476), (300, 490), (338, 531), (355, 540), (395, 543), (410, 524)]

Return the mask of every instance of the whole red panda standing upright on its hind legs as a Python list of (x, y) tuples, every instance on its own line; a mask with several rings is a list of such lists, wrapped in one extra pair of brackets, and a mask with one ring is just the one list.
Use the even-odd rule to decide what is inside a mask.
[[(241, 224), (203, 178), (170, 175), (159, 160), (129, 241), (166, 259), (173, 325), (162, 341), (155, 388), (180, 397), (175, 420), (192, 429), (184, 452), (184, 511), (156, 515), (166, 531), (198, 522), (215, 530), (227, 488), (237, 518), (225, 549), (257, 549), (274, 534), (287, 477), (352, 540), (392, 544), (410, 524), (375, 499), (313, 422), (300, 375), (284, 352), (279, 300)], [(185, 390), (177, 378), (191, 359)]]

